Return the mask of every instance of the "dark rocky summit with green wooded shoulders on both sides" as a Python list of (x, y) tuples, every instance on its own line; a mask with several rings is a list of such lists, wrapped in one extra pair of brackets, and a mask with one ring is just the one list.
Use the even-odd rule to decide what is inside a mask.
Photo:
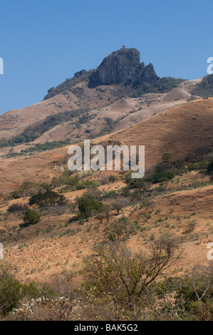
[(105, 57), (96, 70), (78, 71), (73, 78), (67, 78), (56, 88), (50, 88), (44, 100), (69, 91), (73, 86), (82, 82), (85, 82), (88, 88), (103, 85), (117, 86), (117, 88), (119, 87), (117, 93), (119, 97), (120, 89), (122, 89), (124, 96), (167, 93), (182, 81), (183, 79), (180, 78), (158, 77), (151, 63), (147, 66), (143, 62), (140, 63), (140, 52), (137, 49), (123, 46), (120, 50)]

